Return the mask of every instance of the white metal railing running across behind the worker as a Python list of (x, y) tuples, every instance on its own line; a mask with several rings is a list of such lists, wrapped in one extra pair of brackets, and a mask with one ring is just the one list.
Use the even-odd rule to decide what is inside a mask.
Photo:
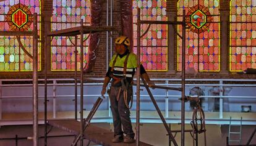
[[(98, 87), (98, 90), (101, 89), (103, 78), (90, 78), (90, 81), (95, 80), (95, 83), (83, 83), (83, 86), (85, 89), (90, 86), (96, 86)], [(181, 87), (181, 84), (179, 83), (181, 79), (151, 79), (155, 81), (158, 86), (169, 86), (169, 87)], [(15, 82), (19, 81), (19, 84), (8, 84), (10, 82)], [(20, 84), (22, 81), (32, 81), (32, 79), (1, 79), (0, 80), (0, 123), (3, 120), (2, 119), (2, 100), (4, 99), (11, 99), (15, 102), (17, 99), (32, 99), (33, 95), (5, 95), (2, 91), (7, 89), (7, 88), (12, 88), (12, 87), (33, 87), (33, 84), (31, 83), (26, 83), (26, 84)], [(44, 81), (43, 79), (39, 79), (39, 81)], [(49, 100), (53, 101), (53, 110), (51, 111), (53, 114), (53, 118), (57, 118), (57, 113), (58, 113), (58, 100), (57, 99), (62, 99), (62, 98), (72, 98), (74, 97), (74, 87), (75, 83), (74, 79), (48, 79), (48, 81), (52, 82), (48, 84), (48, 87), (51, 89), (48, 89), (48, 98)], [(60, 81), (67, 81), (70, 83), (59, 83)], [(198, 83), (200, 81), (200, 83)], [(219, 118), (207, 120), (208, 124), (221, 124), (221, 123), (228, 123), (228, 119), (223, 118), (223, 99), (228, 98), (228, 99), (255, 99), (256, 100), (256, 95), (223, 95), (223, 89), (224, 87), (252, 87), (252, 89), (256, 89), (256, 79), (186, 79), (186, 92), (188, 89), (199, 86), (199, 87), (218, 87), (220, 88), (220, 94), (219, 95), (202, 95), (201, 97), (207, 99), (207, 98), (219, 98), (220, 99), (220, 110), (218, 111), (219, 113)], [(8, 83), (7, 83), (8, 82)], [(174, 83), (175, 82), (175, 83)], [(202, 83), (205, 82), (206, 84)], [(209, 83), (210, 82), (210, 83)], [(236, 83), (236, 84), (232, 84)], [(246, 84), (245, 84), (246, 83)], [(249, 84), (248, 84), (249, 83)], [(250, 84), (251, 83), (251, 84)], [(43, 87), (44, 84), (38, 84), (39, 87)], [(62, 95), (58, 94), (58, 87), (70, 87), (70, 94)], [(22, 88), (20, 88), (22, 89)], [(52, 91), (51, 91), (52, 90)], [(40, 90), (41, 91), (41, 90)], [(49, 91), (51, 91), (51, 95), (49, 95)], [(253, 92), (253, 91), (252, 91)], [(43, 91), (41, 91), (38, 94), (40, 99), (43, 99), (45, 96), (43, 95)], [(80, 96), (80, 95), (78, 95)], [(88, 94), (87, 92), (84, 92), (83, 97), (90, 97), (90, 98), (97, 98), (101, 96), (100, 91), (98, 94)], [(136, 94), (134, 94), (134, 97)], [(149, 99), (149, 96), (147, 94), (141, 94), (141, 97), (143, 99)], [(108, 97), (108, 95), (106, 95)], [(145, 98), (144, 98), (145, 97)], [(179, 123), (179, 118), (171, 118), (169, 116), (169, 112), (172, 110), (171, 107), (169, 107), (170, 99), (179, 99), (181, 98), (180, 95), (171, 95), (171, 92), (168, 90), (163, 89), (161, 91), (161, 94), (154, 95), (157, 100), (164, 100), (164, 110), (162, 112), (165, 112), (166, 114), (164, 115), (166, 118), (166, 121), (168, 123)], [(110, 105), (109, 100), (106, 99), (107, 104)], [(143, 102), (142, 102), (143, 103)], [(71, 103), (70, 103), (71, 104)], [(163, 108), (162, 108), (163, 109)], [(105, 110), (108, 110), (108, 114), (105, 115), (104, 117), (101, 118), (95, 118), (93, 121), (101, 121), (101, 122), (111, 122), (111, 111), (110, 108), (106, 108)], [(155, 110), (155, 109), (152, 109)], [(143, 113), (142, 113), (143, 114)], [(143, 116), (143, 115), (142, 115)], [(134, 118), (132, 117), (132, 121), (134, 121)], [(161, 123), (160, 118), (142, 118), (142, 121), (144, 123)], [(186, 123), (189, 123), (189, 119), (186, 119)], [(246, 123), (246, 120), (245, 120)], [(247, 120), (247, 124), (256, 124), (256, 119), (249, 119)], [(1, 125), (1, 124), (0, 124)]]

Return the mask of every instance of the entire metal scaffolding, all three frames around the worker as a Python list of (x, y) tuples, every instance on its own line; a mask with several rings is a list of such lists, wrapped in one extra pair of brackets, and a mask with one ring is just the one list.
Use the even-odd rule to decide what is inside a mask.
[[(22, 36), (29, 35), (33, 36), (33, 145), (38, 145), (38, 65), (37, 65), (37, 43), (38, 43), (38, 30), (37, 30), (37, 18), (34, 14), (33, 31), (0, 31), (2, 35), (12, 35), (12, 36)], [(185, 105), (185, 33), (186, 33), (186, 22), (185, 22), (185, 12), (183, 15), (182, 22), (171, 22), (171, 21), (143, 21), (140, 20), (140, 9), (137, 21), (137, 63), (140, 64), (140, 38), (147, 33), (147, 31), (140, 36), (140, 26), (142, 24), (149, 24), (148, 29), (151, 24), (169, 24), (169, 25), (182, 25), (182, 36), (178, 33), (177, 35), (182, 38), (182, 87), (177, 89), (177, 91), (182, 92), (182, 103), (181, 103), (181, 145), (184, 146), (184, 105)], [(114, 26), (83, 26), (83, 20), (80, 22), (80, 26), (74, 28), (68, 28), (65, 30), (51, 31), (45, 34), (45, 63), (47, 60), (46, 47), (47, 38), (53, 36), (75, 36), (75, 57), (77, 57), (77, 36), (80, 35), (80, 142), (83, 145), (83, 131), (84, 131), (84, 121), (83, 121), (83, 34), (96, 33), (101, 31), (117, 31)], [(17, 37), (19, 39), (19, 37)], [(20, 41), (19, 41), (20, 43)], [(75, 59), (75, 76), (77, 76), (77, 59)], [(75, 89), (77, 89), (77, 78), (75, 78)], [(47, 129), (47, 68), (45, 68), (45, 129)], [(75, 103), (77, 103), (77, 94), (75, 95)], [(159, 109), (158, 109), (159, 110)], [(77, 113), (77, 104), (75, 104), (75, 113)], [(140, 68), (137, 67), (137, 107), (136, 107), (136, 145), (142, 143), (139, 142), (139, 118), (140, 118)], [(75, 115), (77, 120), (77, 115)], [(161, 118), (164, 121), (164, 118)], [(164, 124), (167, 125), (166, 122)], [(168, 126), (166, 127), (168, 128)], [(171, 132), (168, 131), (169, 137), (174, 145), (177, 145)], [(47, 133), (45, 131), (45, 145), (47, 145)]]

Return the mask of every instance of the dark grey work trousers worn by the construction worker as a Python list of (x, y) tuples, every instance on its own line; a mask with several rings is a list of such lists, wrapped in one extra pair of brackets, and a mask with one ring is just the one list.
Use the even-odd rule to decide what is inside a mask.
[[(111, 112), (113, 115), (114, 123), (114, 136), (126, 134), (126, 136), (134, 138), (134, 131), (132, 131), (132, 123), (130, 122), (130, 110), (126, 107), (124, 103), (124, 94), (121, 91), (119, 95), (119, 100), (117, 101), (117, 94), (120, 87), (111, 86), (110, 89), (110, 103)], [(132, 86), (127, 89), (127, 102), (130, 102), (130, 97), (132, 95)], [(122, 131), (124, 130), (124, 132)]]

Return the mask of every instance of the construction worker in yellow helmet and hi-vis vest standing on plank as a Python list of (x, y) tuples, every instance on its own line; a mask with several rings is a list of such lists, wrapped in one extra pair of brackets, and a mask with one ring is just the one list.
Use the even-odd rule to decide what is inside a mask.
[[(109, 63), (101, 95), (106, 93), (106, 87), (111, 81), (109, 99), (114, 123), (114, 139), (112, 139), (112, 142), (132, 143), (135, 142), (135, 134), (130, 121), (129, 108), (131, 107), (129, 107), (129, 102), (132, 101), (133, 96), (132, 84), (137, 68), (137, 56), (129, 50), (130, 40), (128, 37), (119, 36), (115, 44), (116, 54), (113, 55)], [(146, 80), (148, 86), (152, 87), (154, 85), (142, 65), (140, 65), (140, 75)], [(130, 105), (132, 105), (132, 102)], [(126, 137), (123, 134), (126, 134)]]

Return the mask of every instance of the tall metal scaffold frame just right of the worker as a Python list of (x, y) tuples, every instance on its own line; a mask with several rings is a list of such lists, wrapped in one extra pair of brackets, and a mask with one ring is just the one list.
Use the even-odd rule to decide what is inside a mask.
[[(182, 25), (182, 36), (176, 32), (176, 34), (182, 38), (182, 79), (181, 79), (181, 145), (184, 146), (184, 140), (185, 140), (185, 41), (186, 41), (186, 15), (185, 10), (183, 10), (183, 20), (182, 22), (173, 22), (173, 21), (151, 21), (151, 20), (140, 20), (140, 9), (138, 9), (138, 20), (137, 20), (137, 63), (140, 64), (140, 38), (142, 38), (149, 30), (151, 24), (168, 24), (168, 25)], [(148, 28), (145, 31), (145, 33), (140, 36), (140, 26), (142, 24), (148, 24)], [(176, 89), (179, 91), (179, 89)], [(140, 119), (140, 68), (137, 68), (137, 110), (136, 110), (136, 143), (139, 145), (139, 119)], [(159, 112), (158, 112), (159, 113)], [(160, 112), (161, 113), (161, 112)], [(161, 115), (160, 115), (161, 116)], [(164, 118), (161, 118), (163, 123), (165, 122)], [(168, 131), (169, 135), (169, 141), (172, 141), (174, 145), (177, 145), (176, 140), (173, 137), (173, 134), (171, 134), (168, 125), (164, 123), (164, 126), (166, 128), (166, 131)], [(171, 145), (169, 143), (169, 145)]]

